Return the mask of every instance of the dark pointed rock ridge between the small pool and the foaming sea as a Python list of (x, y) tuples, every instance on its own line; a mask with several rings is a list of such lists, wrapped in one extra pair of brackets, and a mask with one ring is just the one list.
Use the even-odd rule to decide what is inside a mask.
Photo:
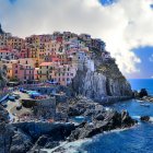
[(126, 110), (121, 114), (116, 110), (101, 111), (99, 115), (93, 116), (93, 122), (83, 122), (78, 126), (71, 132), (69, 141), (91, 138), (97, 133), (113, 129), (130, 128), (136, 122)]

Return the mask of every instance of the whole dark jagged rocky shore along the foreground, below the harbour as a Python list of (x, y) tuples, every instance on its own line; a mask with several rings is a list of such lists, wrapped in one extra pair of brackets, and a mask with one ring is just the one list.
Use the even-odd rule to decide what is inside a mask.
[[(34, 153), (52, 149), (63, 141), (75, 141), (114, 129), (130, 128), (134, 123), (129, 114), (106, 109), (90, 98), (69, 99), (68, 117), (83, 116), (84, 121), (9, 123), (9, 114), (0, 106), (0, 153)], [(60, 150), (60, 148), (58, 148)], [(58, 151), (57, 150), (57, 151)]]

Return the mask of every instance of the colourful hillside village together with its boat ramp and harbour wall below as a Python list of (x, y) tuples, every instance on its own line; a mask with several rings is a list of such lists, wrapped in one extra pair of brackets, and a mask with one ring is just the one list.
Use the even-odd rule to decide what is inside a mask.
[(0, 68), (7, 69), (8, 84), (0, 94), (11, 121), (68, 120), (64, 87), (83, 66), (94, 71), (94, 50), (103, 60), (111, 58), (105, 43), (87, 34), (54, 32), (23, 39), (1, 31)]

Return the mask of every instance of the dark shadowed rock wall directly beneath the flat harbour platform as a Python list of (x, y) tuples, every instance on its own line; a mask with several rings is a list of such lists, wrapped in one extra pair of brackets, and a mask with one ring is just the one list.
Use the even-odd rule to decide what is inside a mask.
[(64, 140), (72, 130), (74, 130), (73, 123), (50, 123), (50, 122), (17, 122), (13, 123), (14, 127), (22, 129), (25, 133), (28, 133), (34, 140), (37, 140), (43, 134), (49, 136), (55, 141)]

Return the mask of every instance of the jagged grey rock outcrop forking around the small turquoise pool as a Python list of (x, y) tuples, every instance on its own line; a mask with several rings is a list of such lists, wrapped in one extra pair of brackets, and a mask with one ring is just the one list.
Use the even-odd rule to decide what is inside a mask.
[[(69, 141), (91, 138), (103, 131), (130, 128), (137, 123), (137, 121), (129, 116), (127, 110), (122, 110), (122, 113), (118, 113), (114, 109), (106, 110), (104, 106), (84, 97), (78, 97), (78, 99), (71, 101), (69, 105), (69, 117), (80, 115), (91, 118), (92, 120), (92, 122), (84, 120), (76, 126), (75, 130), (71, 132)], [(72, 110), (74, 110), (74, 114)]]

